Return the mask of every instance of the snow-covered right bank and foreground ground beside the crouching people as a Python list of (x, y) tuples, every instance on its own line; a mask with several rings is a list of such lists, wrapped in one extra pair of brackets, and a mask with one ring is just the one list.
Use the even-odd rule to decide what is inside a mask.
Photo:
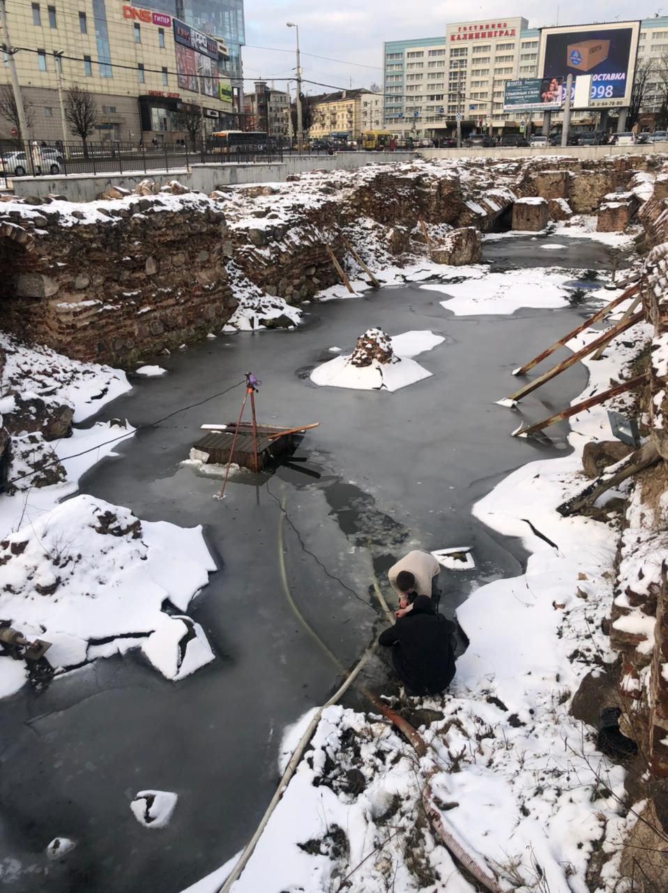
[[(639, 325), (589, 362), (576, 399), (627, 377), (647, 334)], [(624, 772), (569, 712), (581, 678), (613, 657), (600, 622), (617, 530), (555, 509), (582, 486), (584, 443), (609, 437), (607, 408), (572, 418), (571, 455), (524, 465), (474, 506), (488, 526), (522, 538), (530, 558), (520, 577), (480, 587), (457, 610), (470, 645), (447, 696), (422, 702), (435, 711), (422, 728), (427, 755), (373, 714), (330, 707), (233, 893), (470, 893), (425, 819), (427, 780), (446, 829), (500, 889), (586, 893), (589, 855), (614, 854), (633, 822), (620, 806)], [(508, 433), (515, 427), (509, 415)], [(281, 768), (310, 718), (289, 730)], [(613, 858), (602, 884), (614, 872)]]

